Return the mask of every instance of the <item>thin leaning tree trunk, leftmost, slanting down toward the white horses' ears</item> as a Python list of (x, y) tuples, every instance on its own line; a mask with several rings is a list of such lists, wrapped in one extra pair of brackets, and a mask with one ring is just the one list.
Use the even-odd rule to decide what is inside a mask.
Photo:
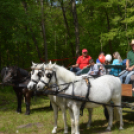
[[(27, 14), (27, 2), (24, 0), (23, 2), (22, 2), (22, 4), (23, 4), (23, 7), (24, 7), (24, 10), (25, 10), (25, 13)], [(28, 14), (27, 14), (28, 15)], [(39, 47), (38, 47), (38, 43), (37, 43), (37, 40), (36, 40), (36, 38), (35, 38), (35, 36), (34, 36), (34, 34), (33, 34), (33, 30), (32, 30), (32, 28), (29, 26), (29, 28), (30, 28), (30, 31), (31, 31), (31, 33), (32, 33), (32, 39), (33, 39), (33, 42), (34, 42), (34, 45), (35, 45), (35, 47), (36, 47), (36, 51), (37, 51), (37, 54), (38, 54), (38, 58), (39, 58), (39, 60), (41, 61), (41, 54), (40, 54), (40, 50), (39, 50)], [(27, 26), (25, 26), (25, 29), (27, 30)], [(28, 42), (27, 42), (27, 48), (29, 48), (30, 46), (29, 46), (29, 44), (28, 44)]]

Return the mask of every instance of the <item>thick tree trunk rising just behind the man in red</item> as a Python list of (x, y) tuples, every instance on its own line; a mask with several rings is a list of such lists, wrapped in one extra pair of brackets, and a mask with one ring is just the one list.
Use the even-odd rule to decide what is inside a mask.
[(75, 25), (75, 37), (76, 37), (76, 56), (79, 56), (79, 28), (78, 28), (78, 20), (77, 20), (77, 12), (76, 12), (76, 3), (75, 0), (71, 0), (72, 4), (72, 14), (73, 14), (73, 19), (74, 19), (74, 25)]

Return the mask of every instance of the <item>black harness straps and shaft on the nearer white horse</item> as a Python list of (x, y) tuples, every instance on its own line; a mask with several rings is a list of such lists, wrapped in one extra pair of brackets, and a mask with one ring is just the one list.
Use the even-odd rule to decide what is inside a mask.
[[(51, 70), (51, 69), (45, 69), (45, 70)], [(45, 70), (42, 70), (45, 72)], [(110, 104), (106, 104), (106, 103), (100, 103), (100, 102), (96, 102), (96, 101), (92, 101), (89, 99), (89, 93), (90, 93), (90, 88), (91, 88), (91, 85), (90, 85), (90, 82), (89, 82), (89, 79), (88, 78), (84, 78), (84, 80), (86, 81), (87, 83), (87, 86), (88, 86), (88, 89), (87, 89), (87, 94), (85, 97), (83, 96), (75, 96), (74, 94), (74, 83), (76, 82), (79, 82), (79, 81), (74, 81), (74, 82), (69, 82), (69, 83), (64, 83), (64, 84), (57, 84), (57, 76), (56, 76), (56, 72), (51, 70), (52, 71), (52, 74), (51, 73), (48, 73), (46, 75), (47, 78), (49, 78), (49, 82), (46, 83), (45, 81), (43, 80), (40, 80), (40, 82), (44, 83), (45, 85), (47, 85), (47, 87), (45, 89), (51, 89), (51, 88), (56, 88), (56, 92), (53, 91), (53, 92), (50, 92), (50, 95), (56, 95), (58, 97), (65, 97), (65, 98), (70, 98), (70, 99), (73, 99), (73, 100), (77, 100), (77, 101), (82, 101), (82, 104), (81, 104), (81, 113), (80, 115), (82, 116), (83, 115), (83, 109), (86, 105), (86, 102), (91, 102), (91, 103), (95, 103), (95, 104), (98, 104), (98, 105), (103, 105), (104, 107), (105, 106), (109, 106), (109, 107), (123, 107), (122, 105), (114, 105), (113, 103), (110, 103)], [(56, 83), (55, 84), (52, 84), (52, 85), (49, 85), (50, 81), (51, 81), (51, 78), (52, 76), (55, 76), (56, 78)], [(65, 91), (69, 88), (70, 84), (72, 84), (72, 95), (68, 95), (68, 94), (61, 94), (62, 91)], [(65, 88), (63, 89), (59, 89), (59, 86), (63, 86), (63, 85), (67, 85)], [(46, 90), (45, 90), (46, 91)], [(49, 90), (50, 91), (50, 90)], [(48, 93), (49, 94), (49, 93)]]

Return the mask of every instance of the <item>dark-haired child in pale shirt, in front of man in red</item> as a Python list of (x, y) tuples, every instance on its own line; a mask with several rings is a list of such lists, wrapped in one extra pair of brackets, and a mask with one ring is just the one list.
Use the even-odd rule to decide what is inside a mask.
[(89, 64), (90, 64), (90, 70), (88, 72), (88, 75), (99, 76), (99, 67), (97, 64), (94, 63), (93, 59), (90, 59)]

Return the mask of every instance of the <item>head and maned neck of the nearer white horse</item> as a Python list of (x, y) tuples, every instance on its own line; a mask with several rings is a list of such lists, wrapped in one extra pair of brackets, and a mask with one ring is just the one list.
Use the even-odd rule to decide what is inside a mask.
[(63, 66), (49, 63), (46, 65), (44, 75), (40, 78), (40, 81), (37, 84), (37, 90), (42, 90), (45, 86), (53, 84), (63, 84), (70, 83), (82, 79), (77, 77), (74, 73), (67, 70)]

